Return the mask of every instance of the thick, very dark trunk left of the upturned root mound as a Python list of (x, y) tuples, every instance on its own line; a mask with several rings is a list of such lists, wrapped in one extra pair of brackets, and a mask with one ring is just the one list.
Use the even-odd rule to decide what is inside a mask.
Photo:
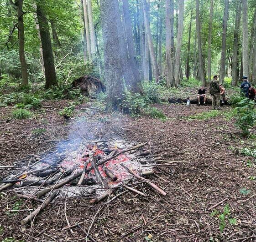
[(57, 86), (57, 76), (52, 54), (52, 43), (49, 25), (41, 6), (37, 5), (37, 20), (39, 24), (40, 37), (42, 42), (43, 63), (45, 69), (45, 87)]

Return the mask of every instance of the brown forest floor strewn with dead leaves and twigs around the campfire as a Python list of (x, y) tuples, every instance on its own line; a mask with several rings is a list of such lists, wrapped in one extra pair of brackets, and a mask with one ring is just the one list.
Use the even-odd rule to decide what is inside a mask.
[[(55, 108), (66, 104), (44, 103)], [(85, 241), (90, 226), (94, 241), (255, 241), (256, 163), (240, 151), (256, 145), (256, 131), (252, 131), (251, 138), (241, 138), (234, 120), (227, 118), (230, 107), (213, 112), (211, 106), (154, 106), (165, 113), (165, 121), (94, 111), (76, 112), (71, 121), (53, 111), (35, 111), (30, 119), (9, 120), (11, 108), (1, 107), (1, 166), (28, 162), (22, 158), (50, 151), (57, 145), (56, 140), (66, 139), (71, 133), (90, 139), (121, 138), (136, 144), (147, 141), (149, 158), (189, 162), (157, 162), (158, 177), (150, 179), (167, 192), (165, 197), (145, 185), (142, 188), (148, 196), (127, 192), (110, 204), (103, 201), (94, 205), (89, 199), (67, 198), (69, 223), (81, 222), (82, 229), (73, 227), (73, 234), (61, 230), (67, 226), (64, 200), (38, 215), (32, 227), (22, 227), (20, 221), (27, 211), (9, 213), (19, 199), (14, 192), (4, 191), (0, 193), (1, 241), (7, 237)], [(1, 170), (0, 179), (6, 174)], [(214, 209), (209, 208), (214, 205), (213, 213)], [(27, 206), (37, 207), (37, 203), (27, 202)], [(224, 226), (221, 232), (219, 227)]]

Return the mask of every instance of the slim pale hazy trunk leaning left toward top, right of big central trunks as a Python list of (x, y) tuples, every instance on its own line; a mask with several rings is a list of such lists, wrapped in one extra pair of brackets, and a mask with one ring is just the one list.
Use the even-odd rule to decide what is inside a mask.
[(151, 59), (151, 62), (152, 62), (152, 67), (153, 67), (153, 75), (155, 77), (155, 81), (158, 83), (160, 75), (159, 75), (157, 60), (156, 60), (156, 56), (155, 56), (155, 52), (154, 52), (154, 45), (153, 45), (152, 35), (151, 35), (151, 32), (150, 32), (149, 16), (147, 15), (147, 2), (146, 2), (146, 0), (142, 0), (142, 5), (143, 5), (144, 23), (145, 23), (145, 29), (146, 29), (146, 39), (147, 39), (147, 42), (148, 42), (150, 59)]

